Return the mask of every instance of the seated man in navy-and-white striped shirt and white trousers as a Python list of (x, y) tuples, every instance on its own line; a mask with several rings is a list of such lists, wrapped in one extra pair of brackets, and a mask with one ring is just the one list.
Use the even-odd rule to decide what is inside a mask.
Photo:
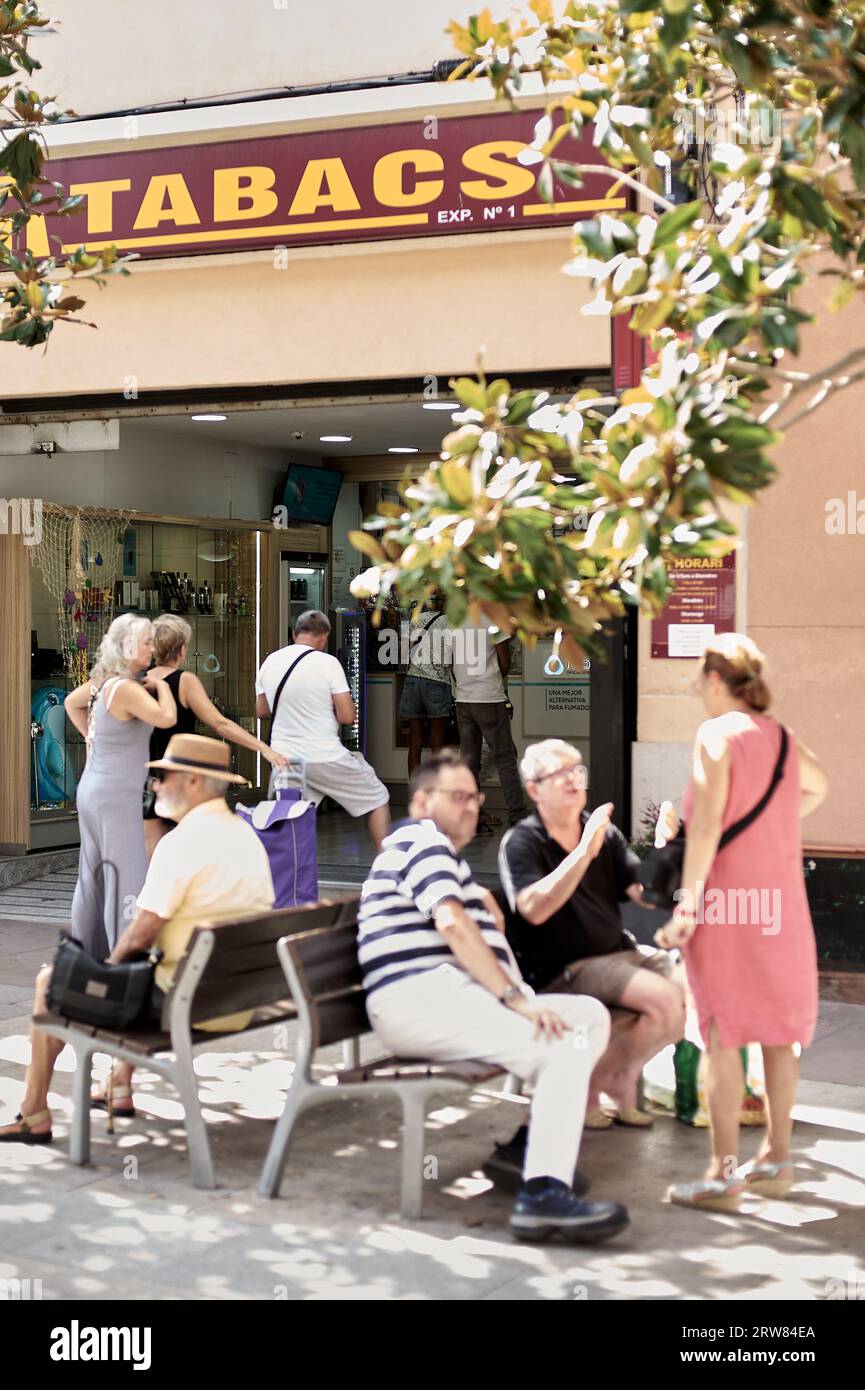
[(370, 1023), (399, 1056), (492, 1062), (533, 1084), (510, 1232), (519, 1240), (605, 1240), (627, 1225), (627, 1211), (584, 1201), (572, 1184), (609, 1013), (583, 995), (541, 1002), (524, 984), (495, 899), (460, 858), (481, 801), (452, 752), (414, 771), (410, 819), (382, 842), (360, 899), (357, 956)]

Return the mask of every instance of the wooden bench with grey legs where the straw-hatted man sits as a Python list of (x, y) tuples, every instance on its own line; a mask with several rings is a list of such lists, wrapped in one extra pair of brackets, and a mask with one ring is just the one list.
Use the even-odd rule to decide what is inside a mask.
[[(285, 973), (277, 956), (277, 942), (291, 941), (291, 934), (317, 929), (356, 930), (357, 898), (346, 902), (317, 902), (303, 908), (266, 912), (236, 922), (203, 924), (189, 938), (174, 984), (165, 997), (160, 1024), (153, 1029), (111, 1033), (76, 1023), (54, 1013), (33, 1016), (33, 1024), (60, 1038), (75, 1051), (72, 1083), (74, 1116), (70, 1156), (74, 1163), (90, 1158), (90, 1069), (95, 1052), (146, 1065), (177, 1088), (184, 1105), (186, 1145), (196, 1187), (216, 1187), (207, 1126), (202, 1115), (193, 1069), (196, 1048), (211, 1045), (220, 1037), (239, 1037), (241, 1031), (295, 1019), (295, 1004), (286, 990)], [(288, 935), (286, 935), (288, 933)], [(202, 1031), (196, 1027), (209, 1019), (253, 1009), (243, 1030), (231, 1033)]]

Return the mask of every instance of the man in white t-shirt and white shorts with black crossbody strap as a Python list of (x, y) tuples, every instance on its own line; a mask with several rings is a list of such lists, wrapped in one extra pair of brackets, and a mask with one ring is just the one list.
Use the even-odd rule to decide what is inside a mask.
[[(295, 642), (271, 652), (256, 680), (256, 714), (271, 719), (271, 746), (303, 758), (310, 791), (330, 796), (349, 816), (366, 816), (375, 849), (391, 827), (388, 790), (359, 753), (339, 738), (355, 723), (345, 671), (325, 648), (331, 624), (310, 609), (295, 624)], [(295, 666), (298, 667), (295, 670)]]

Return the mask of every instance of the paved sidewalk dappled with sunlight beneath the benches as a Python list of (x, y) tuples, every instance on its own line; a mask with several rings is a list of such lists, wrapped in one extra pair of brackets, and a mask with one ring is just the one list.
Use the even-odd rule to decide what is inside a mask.
[[(0, 923), (3, 1119), (22, 1093), (32, 980), (53, 941), (50, 926)], [(430, 1180), (416, 1225), (396, 1213), (399, 1116), (387, 1102), (310, 1112), (282, 1197), (261, 1201), (256, 1182), (292, 1056), (293, 1038), (282, 1051), (268, 1030), (199, 1055), (221, 1184), (200, 1193), (189, 1183), (177, 1098), (146, 1072), (136, 1083), (140, 1118), (118, 1120), (110, 1137), (95, 1115), (95, 1163), (72, 1168), (64, 1054), (51, 1094), (56, 1143), (0, 1147), (0, 1279), (40, 1279), (45, 1298), (82, 1300), (808, 1300), (865, 1290), (865, 1011), (857, 1006), (820, 1011), (797, 1108), (794, 1200), (751, 1198), (738, 1216), (665, 1205), (673, 1177), (700, 1175), (706, 1136), (659, 1116), (651, 1131), (585, 1137), (580, 1166), (592, 1195), (631, 1211), (630, 1229), (594, 1250), (510, 1241), (509, 1200), (480, 1168), (526, 1106), (494, 1093), (430, 1115)], [(335, 1066), (338, 1049), (325, 1058)], [(758, 1137), (743, 1133), (745, 1156)]]

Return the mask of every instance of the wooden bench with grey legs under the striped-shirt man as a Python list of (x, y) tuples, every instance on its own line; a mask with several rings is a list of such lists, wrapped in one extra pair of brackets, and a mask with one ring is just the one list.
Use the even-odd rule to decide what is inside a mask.
[(277, 947), (298, 1009), (298, 1054), (282, 1115), (267, 1151), (259, 1194), (277, 1197), (302, 1111), (334, 1099), (389, 1095), (402, 1105), (401, 1213), (416, 1220), (423, 1205), (424, 1122), (434, 1095), (464, 1094), (505, 1076), (488, 1062), (424, 1062), (388, 1056), (318, 1081), (316, 1052), (370, 1031), (357, 963), (355, 924), (284, 937)]

